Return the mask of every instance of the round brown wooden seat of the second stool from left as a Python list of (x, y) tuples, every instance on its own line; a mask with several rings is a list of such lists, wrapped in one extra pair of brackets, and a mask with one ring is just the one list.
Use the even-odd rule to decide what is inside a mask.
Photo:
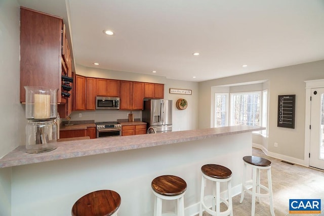
[(187, 189), (187, 183), (177, 176), (159, 176), (153, 179), (152, 189), (163, 196), (177, 196), (184, 193)]

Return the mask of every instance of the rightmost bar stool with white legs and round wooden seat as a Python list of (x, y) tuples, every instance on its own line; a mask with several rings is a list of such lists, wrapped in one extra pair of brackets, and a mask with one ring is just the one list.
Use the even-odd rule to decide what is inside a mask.
[[(257, 156), (245, 156), (243, 157), (244, 167), (243, 167), (243, 183), (242, 183), (242, 193), (240, 203), (244, 199), (244, 192), (252, 194), (252, 211), (251, 215), (255, 214), (255, 199), (258, 198), (260, 203), (260, 197), (269, 197), (270, 199), (270, 212), (274, 216), (273, 201), (272, 201), (272, 182), (271, 182), (271, 161), (262, 157)], [(252, 183), (246, 182), (246, 170), (247, 166), (252, 167)], [(268, 187), (260, 184), (260, 169), (267, 170), (268, 176)], [(248, 189), (248, 186), (252, 186), (252, 191)], [(260, 189), (264, 189), (266, 193), (261, 193)]]

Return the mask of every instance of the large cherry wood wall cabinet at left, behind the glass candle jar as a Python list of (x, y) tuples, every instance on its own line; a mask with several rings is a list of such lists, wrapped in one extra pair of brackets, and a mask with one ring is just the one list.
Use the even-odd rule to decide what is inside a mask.
[(24, 86), (57, 89), (60, 116), (69, 115), (72, 83), (62, 75), (72, 77), (71, 65), (63, 19), (21, 7), (20, 102), (25, 102)]

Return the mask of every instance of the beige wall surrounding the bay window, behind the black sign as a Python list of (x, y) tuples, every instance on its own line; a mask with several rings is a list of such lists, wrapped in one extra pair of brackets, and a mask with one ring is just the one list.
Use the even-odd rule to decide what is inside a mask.
[[(230, 85), (241, 82), (269, 80), (269, 118), (268, 148), (269, 152), (304, 160), (305, 128), (305, 82), (304, 80), (324, 78), (324, 60), (288, 67), (275, 68), (249, 74), (225, 77), (199, 82), (198, 128), (211, 124), (211, 88), (218, 85)], [(277, 127), (278, 95), (296, 95), (295, 129)], [(278, 143), (274, 147), (273, 143)]]

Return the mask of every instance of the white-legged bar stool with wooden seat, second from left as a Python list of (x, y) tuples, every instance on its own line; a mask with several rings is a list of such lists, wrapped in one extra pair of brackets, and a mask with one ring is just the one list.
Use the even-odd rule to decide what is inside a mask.
[[(154, 200), (154, 216), (171, 216), (178, 215), (184, 216), (184, 194), (187, 189), (187, 183), (177, 176), (159, 176), (156, 177), (151, 187), (153, 194), (155, 195)], [(177, 214), (176, 213), (164, 213), (162, 214), (162, 200), (177, 200)]]

